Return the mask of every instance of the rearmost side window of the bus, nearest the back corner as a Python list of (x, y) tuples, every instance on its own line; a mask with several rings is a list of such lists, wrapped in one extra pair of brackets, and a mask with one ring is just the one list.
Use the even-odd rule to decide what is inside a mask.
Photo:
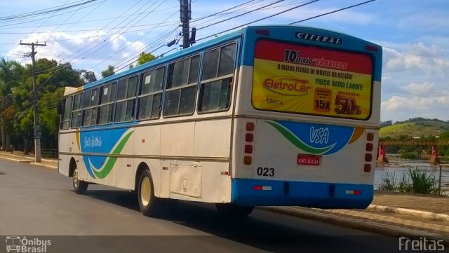
[(226, 111), (231, 104), (236, 43), (206, 52), (199, 91), (199, 113)]

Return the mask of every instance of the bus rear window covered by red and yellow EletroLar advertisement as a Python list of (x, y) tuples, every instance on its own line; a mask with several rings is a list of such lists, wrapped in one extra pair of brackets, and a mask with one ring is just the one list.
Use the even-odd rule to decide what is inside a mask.
[(255, 45), (255, 109), (367, 120), (372, 92), (373, 60), (364, 53), (268, 40)]

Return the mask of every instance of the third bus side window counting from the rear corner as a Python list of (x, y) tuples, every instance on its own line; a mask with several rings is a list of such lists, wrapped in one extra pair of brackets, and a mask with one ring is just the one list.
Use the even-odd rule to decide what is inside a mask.
[(138, 119), (159, 118), (161, 116), (162, 87), (165, 67), (159, 67), (142, 74), (139, 90)]

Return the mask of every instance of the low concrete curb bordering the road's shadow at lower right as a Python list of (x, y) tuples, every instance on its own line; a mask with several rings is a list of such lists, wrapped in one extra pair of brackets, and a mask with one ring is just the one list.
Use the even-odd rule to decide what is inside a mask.
[(437, 233), (430, 233), (426, 231), (418, 231), (415, 229), (402, 228), (398, 226), (391, 226), (387, 224), (377, 224), (372, 221), (361, 221), (350, 217), (340, 217), (333, 214), (323, 214), (314, 212), (314, 210), (307, 210), (307, 208), (289, 209), (286, 207), (257, 207), (261, 210), (267, 210), (269, 212), (277, 212), (280, 214), (287, 214), (295, 217), (301, 217), (306, 219), (314, 219), (317, 221), (327, 222), (329, 224), (335, 224), (339, 226), (346, 226), (349, 228), (356, 228), (363, 231), (370, 231), (373, 233), (380, 233), (382, 235), (391, 236), (425, 236), (432, 240), (443, 240), (445, 243), (449, 242), (449, 237), (440, 235)]

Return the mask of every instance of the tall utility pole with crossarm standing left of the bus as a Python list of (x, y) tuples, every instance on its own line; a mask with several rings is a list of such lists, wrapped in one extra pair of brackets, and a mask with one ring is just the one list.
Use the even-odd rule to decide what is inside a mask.
[(34, 108), (34, 162), (41, 162), (41, 126), (39, 125), (39, 107), (37, 106), (37, 90), (36, 90), (36, 60), (34, 55), (36, 52), (34, 48), (36, 46), (47, 46), (46, 44), (39, 43), (22, 43), (20, 45), (31, 47), (31, 59), (32, 59), (32, 75), (33, 75), (33, 108)]

